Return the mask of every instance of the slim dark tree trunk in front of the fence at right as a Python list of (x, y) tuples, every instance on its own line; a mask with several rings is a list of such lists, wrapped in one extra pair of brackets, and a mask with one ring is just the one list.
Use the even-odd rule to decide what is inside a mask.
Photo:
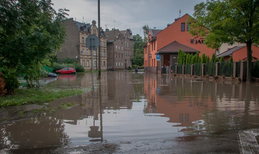
[(246, 82), (252, 82), (252, 40), (246, 43), (247, 49), (247, 71), (246, 71)]

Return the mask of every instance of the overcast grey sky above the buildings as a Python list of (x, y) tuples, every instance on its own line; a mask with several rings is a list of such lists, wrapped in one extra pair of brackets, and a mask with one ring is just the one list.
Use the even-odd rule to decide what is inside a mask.
[[(101, 27), (125, 30), (130, 28), (133, 35), (143, 36), (141, 27), (148, 24), (150, 28), (164, 29), (167, 24), (181, 15), (193, 14), (193, 8), (203, 0), (100, 0)], [(98, 24), (97, 0), (52, 0), (54, 9), (66, 8), (68, 18), (76, 21)]]

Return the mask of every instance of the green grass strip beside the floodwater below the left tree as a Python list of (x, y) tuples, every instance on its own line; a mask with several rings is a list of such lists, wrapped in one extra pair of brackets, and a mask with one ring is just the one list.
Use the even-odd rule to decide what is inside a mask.
[(17, 89), (14, 95), (0, 97), (0, 107), (49, 102), (79, 95), (89, 89), (43, 90), (40, 88)]

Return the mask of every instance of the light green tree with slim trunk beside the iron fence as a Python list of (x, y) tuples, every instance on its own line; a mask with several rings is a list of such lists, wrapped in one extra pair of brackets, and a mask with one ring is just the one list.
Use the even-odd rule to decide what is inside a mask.
[(258, 0), (208, 0), (194, 7), (190, 34), (205, 37), (204, 44), (218, 48), (222, 43), (245, 43), (247, 82), (252, 82), (252, 44), (259, 44)]

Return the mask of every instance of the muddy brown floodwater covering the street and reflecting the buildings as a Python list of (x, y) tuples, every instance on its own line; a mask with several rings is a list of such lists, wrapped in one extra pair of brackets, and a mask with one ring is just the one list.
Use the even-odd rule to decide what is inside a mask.
[[(41, 80), (41, 88), (89, 88), (91, 77), (85, 73), (46, 78)], [(197, 81), (127, 71), (102, 72), (101, 80), (95, 78), (94, 82), (97, 88), (82, 95), (1, 109), (2, 117), (15, 116), (20, 111), (27, 115), (0, 123), (0, 148), (220, 136), (259, 126), (258, 83)], [(67, 102), (84, 105), (30, 114), (41, 107), (55, 108)]]

